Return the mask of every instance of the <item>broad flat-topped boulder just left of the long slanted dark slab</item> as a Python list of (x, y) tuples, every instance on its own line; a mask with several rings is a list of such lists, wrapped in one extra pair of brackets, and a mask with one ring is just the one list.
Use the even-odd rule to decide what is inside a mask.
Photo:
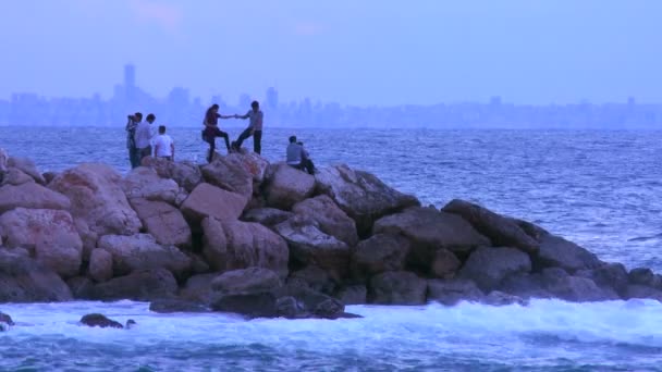
[(440, 248), (466, 256), (477, 247), (490, 245), (461, 216), (434, 208), (408, 208), (378, 220), (372, 230), (375, 234), (402, 234), (409, 238), (412, 259), (420, 265), (430, 265)]

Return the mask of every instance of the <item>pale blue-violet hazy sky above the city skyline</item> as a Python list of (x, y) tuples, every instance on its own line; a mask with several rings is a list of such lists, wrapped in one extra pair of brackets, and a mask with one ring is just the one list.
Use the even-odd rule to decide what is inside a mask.
[(0, 98), (662, 102), (661, 0), (0, 0)]

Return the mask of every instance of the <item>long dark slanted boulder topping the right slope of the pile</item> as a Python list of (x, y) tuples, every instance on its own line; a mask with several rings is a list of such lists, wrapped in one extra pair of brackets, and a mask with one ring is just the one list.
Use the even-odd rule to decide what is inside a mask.
[(538, 241), (519, 227), (515, 221), (497, 214), (487, 208), (455, 199), (443, 207), (442, 211), (462, 216), (497, 246), (519, 248), (527, 253), (538, 251)]

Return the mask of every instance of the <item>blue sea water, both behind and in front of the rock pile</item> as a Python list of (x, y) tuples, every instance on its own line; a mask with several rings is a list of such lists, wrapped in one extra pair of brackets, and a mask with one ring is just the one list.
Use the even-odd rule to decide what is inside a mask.
[[(172, 128), (176, 158), (204, 162), (197, 128)], [(241, 128), (229, 128), (233, 138)], [(346, 163), (442, 207), (453, 198), (535, 222), (628, 269), (662, 272), (662, 132), (269, 128), (318, 166)], [(222, 140), (218, 145), (222, 147)], [(244, 146), (252, 148), (248, 139)], [(0, 127), (0, 147), (42, 171), (128, 169), (123, 127)], [(487, 307), (348, 307), (356, 320), (244, 321), (155, 314), (140, 302), (0, 305), (0, 370), (662, 370), (662, 305), (651, 300)], [(135, 330), (75, 325), (99, 311)]]

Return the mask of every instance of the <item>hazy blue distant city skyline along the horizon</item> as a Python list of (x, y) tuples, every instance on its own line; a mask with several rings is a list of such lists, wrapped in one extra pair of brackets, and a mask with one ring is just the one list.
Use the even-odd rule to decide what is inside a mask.
[[(113, 95), (88, 98), (45, 98), (37, 94), (14, 94), (0, 100), (0, 125), (118, 126), (126, 114), (155, 113), (160, 123), (199, 126), (205, 110), (218, 103), (225, 114), (244, 113), (257, 99), (271, 127), (429, 127), (429, 128), (660, 128), (662, 104), (627, 102), (562, 106), (527, 106), (504, 102), (500, 96), (489, 102), (400, 104), (358, 107), (304, 98), (283, 101), (275, 87), (262, 94), (242, 94), (237, 102), (222, 95), (192, 97), (185, 87), (173, 87), (166, 97), (155, 97), (136, 83), (139, 73), (127, 64)], [(224, 126), (241, 126), (231, 121)]]

